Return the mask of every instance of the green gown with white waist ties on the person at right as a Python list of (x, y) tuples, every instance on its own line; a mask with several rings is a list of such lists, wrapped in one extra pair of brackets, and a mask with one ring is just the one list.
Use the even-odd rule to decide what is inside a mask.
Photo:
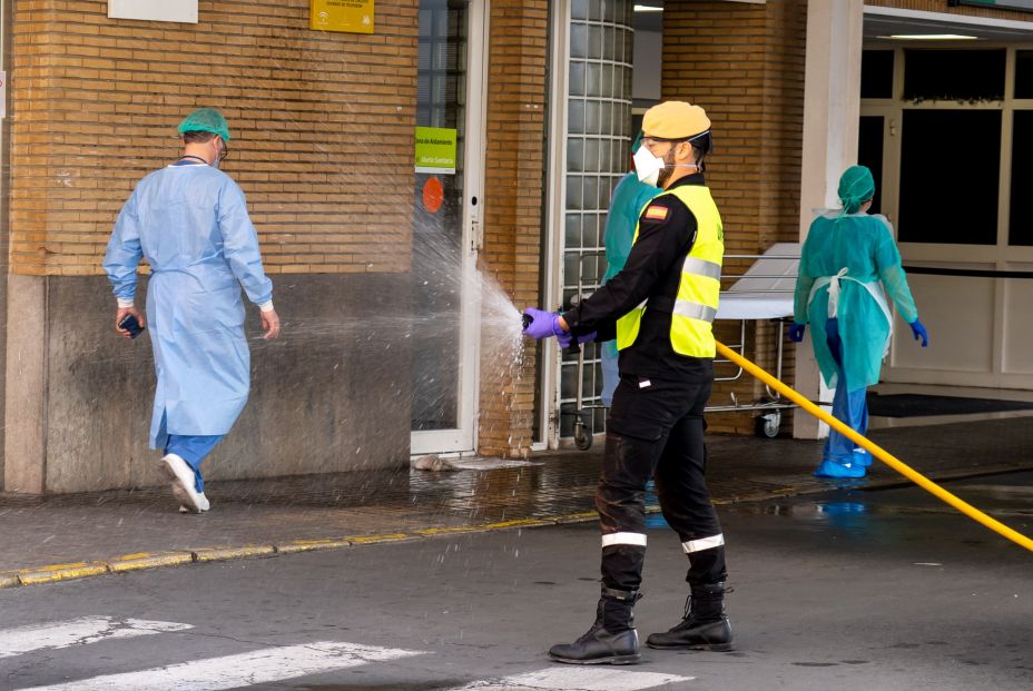
[[(825, 322), (829, 318), (829, 289), (833, 287), (829, 278), (844, 269), (838, 280), (837, 316), (846, 381), (840, 383), (826, 343)], [(878, 383), (891, 323), (883, 305), (872, 295), (873, 290), (883, 296), (883, 304), (888, 294), (908, 324), (918, 318), (886, 217), (828, 211), (815, 218), (800, 257), (794, 313), (798, 324), (810, 324), (818, 366), (830, 388), (844, 385), (846, 391), (854, 392)]]

